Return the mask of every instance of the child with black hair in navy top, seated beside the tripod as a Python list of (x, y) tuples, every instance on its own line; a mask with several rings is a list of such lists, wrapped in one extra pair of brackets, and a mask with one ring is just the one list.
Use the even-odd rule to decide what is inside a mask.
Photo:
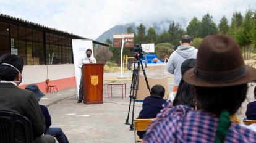
[[(151, 96), (145, 97), (142, 104), (142, 110), (139, 113), (139, 119), (156, 118), (156, 115), (167, 104), (163, 99), (165, 89), (161, 85), (155, 85), (151, 88)], [(137, 131), (140, 138), (143, 137), (145, 131)]]

